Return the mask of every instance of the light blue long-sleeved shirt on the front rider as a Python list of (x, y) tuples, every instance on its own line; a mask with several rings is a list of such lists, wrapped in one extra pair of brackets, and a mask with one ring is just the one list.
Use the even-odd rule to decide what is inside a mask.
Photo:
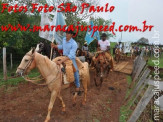
[(76, 58), (76, 50), (78, 45), (74, 39), (66, 41), (66, 38), (63, 38), (62, 45), (58, 45), (59, 50), (63, 50), (63, 55), (69, 57), (71, 60)]

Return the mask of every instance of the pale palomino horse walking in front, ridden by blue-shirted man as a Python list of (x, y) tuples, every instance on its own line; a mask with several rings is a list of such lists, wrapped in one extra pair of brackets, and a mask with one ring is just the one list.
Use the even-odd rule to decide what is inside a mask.
[[(86, 102), (87, 87), (90, 82), (88, 63), (85, 62), (85, 64), (86, 65), (84, 66), (86, 70), (79, 69), (79, 74), (81, 75), (81, 81), (84, 87), (84, 99), (82, 102), (83, 105)], [(48, 122), (50, 120), (50, 113), (52, 111), (56, 97), (58, 97), (62, 103), (62, 112), (65, 112), (66, 105), (60, 94), (61, 90), (64, 89), (64, 85), (62, 82), (61, 65), (57, 65), (55, 62), (51, 61), (46, 56), (43, 56), (37, 53), (35, 49), (32, 49), (23, 57), (19, 67), (17, 68), (16, 73), (24, 76), (35, 67), (38, 68), (40, 74), (45, 79), (45, 85), (47, 85), (49, 90), (51, 91), (51, 98), (48, 106), (48, 114), (45, 119), (45, 122)], [(76, 97), (77, 93), (75, 93), (75, 95), (73, 96), (74, 102), (76, 102)]]

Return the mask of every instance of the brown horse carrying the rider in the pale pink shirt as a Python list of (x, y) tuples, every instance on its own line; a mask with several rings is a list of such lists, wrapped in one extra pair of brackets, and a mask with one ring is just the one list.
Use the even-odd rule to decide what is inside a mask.
[[(94, 81), (96, 86), (101, 86), (104, 76), (109, 74), (110, 69), (113, 69), (113, 57), (109, 52), (98, 51), (96, 56), (92, 58), (91, 66), (95, 67)], [(100, 83), (97, 83), (99, 82)]]

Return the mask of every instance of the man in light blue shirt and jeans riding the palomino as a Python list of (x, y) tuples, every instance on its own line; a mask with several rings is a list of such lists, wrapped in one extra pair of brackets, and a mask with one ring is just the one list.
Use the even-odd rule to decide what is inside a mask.
[(59, 50), (63, 50), (63, 56), (65, 56), (65, 58), (59, 60), (57, 62), (58, 65), (64, 63), (66, 60), (69, 59), (72, 60), (73, 65), (76, 69), (76, 71), (74, 72), (76, 92), (78, 93), (78, 95), (80, 95), (81, 91), (80, 91), (80, 81), (79, 81), (79, 70), (76, 64), (76, 50), (78, 48), (78, 45), (76, 41), (72, 38), (73, 35), (74, 32), (72, 30), (69, 31), (67, 30), (66, 37), (63, 38), (62, 45), (55, 45), (54, 43), (51, 43), (51, 47), (58, 48)]

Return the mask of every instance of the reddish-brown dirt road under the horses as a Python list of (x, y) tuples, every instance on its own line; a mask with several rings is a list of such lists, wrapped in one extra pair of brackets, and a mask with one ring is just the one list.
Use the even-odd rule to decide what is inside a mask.
[[(92, 71), (90, 71), (91, 76)], [(113, 89), (109, 89), (113, 87)], [(81, 106), (82, 96), (78, 97), (77, 105), (72, 106), (74, 88), (62, 91), (66, 106), (66, 114), (61, 114), (61, 104), (55, 101), (50, 122), (118, 122), (120, 106), (127, 89), (126, 75), (110, 72), (101, 89), (91, 84), (87, 103)], [(31, 83), (19, 84), (16, 87), (0, 89), (0, 122), (43, 122), (46, 118), (50, 92), (47, 87)]]

